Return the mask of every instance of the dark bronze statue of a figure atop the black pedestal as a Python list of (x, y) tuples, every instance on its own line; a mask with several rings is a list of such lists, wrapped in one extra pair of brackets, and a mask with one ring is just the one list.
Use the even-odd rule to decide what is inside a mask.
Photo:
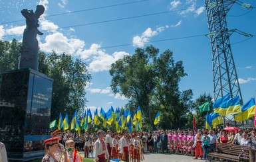
[(31, 68), (38, 70), (39, 45), (37, 34), (43, 35), (37, 28), (39, 27), (39, 17), (45, 12), (43, 5), (37, 5), (35, 13), (33, 10), (23, 9), (21, 14), (26, 18), (26, 28), (23, 32), (23, 42), (19, 50), (19, 69)]

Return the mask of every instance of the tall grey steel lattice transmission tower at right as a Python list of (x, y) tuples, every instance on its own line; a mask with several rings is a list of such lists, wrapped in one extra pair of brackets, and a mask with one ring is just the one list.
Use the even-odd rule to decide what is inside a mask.
[(213, 66), (213, 97), (216, 101), (227, 93), (231, 97), (239, 95), (243, 103), (239, 87), (235, 62), (231, 52), (229, 36), (235, 30), (227, 28), (226, 15), (236, 0), (205, 0), (211, 56)]

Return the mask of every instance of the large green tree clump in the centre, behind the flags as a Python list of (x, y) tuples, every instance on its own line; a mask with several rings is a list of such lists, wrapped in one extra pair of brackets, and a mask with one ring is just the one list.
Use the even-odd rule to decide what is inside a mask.
[(112, 64), (111, 87), (129, 100), (126, 105), (140, 105), (145, 122), (152, 124), (158, 110), (162, 128), (184, 126), (182, 119), (192, 108), (192, 90), (179, 91), (179, 82), (187, 74), (182, 61), (175, 61), (170, 50), (159, 54), (153, 46), (137, 48), (135, 54)]

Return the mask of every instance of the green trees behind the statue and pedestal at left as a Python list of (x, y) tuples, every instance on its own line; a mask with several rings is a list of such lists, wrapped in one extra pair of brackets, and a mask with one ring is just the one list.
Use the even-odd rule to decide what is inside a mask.
[[(0, 41), (0, 73), (18, 69), (20, 45), (17, 40)], [(51, 119), (59, 118), (59, 112), (68, 112), (71, 117), (74, 109), (84, 110), (85, 87), (91, 80), (86, 63), (65, 53), (39, 52), (39, 71), (54, 80)]]

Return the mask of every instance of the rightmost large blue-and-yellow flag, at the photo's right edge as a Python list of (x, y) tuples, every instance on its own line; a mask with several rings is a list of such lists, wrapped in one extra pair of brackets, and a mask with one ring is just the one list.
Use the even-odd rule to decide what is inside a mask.
[(247, 101), (241, 108), (240, 114), (235, 114), (235, 120), (243, 121), (251, 118), (255, 115), (255, 99), (251, 98), (251, 100)]

